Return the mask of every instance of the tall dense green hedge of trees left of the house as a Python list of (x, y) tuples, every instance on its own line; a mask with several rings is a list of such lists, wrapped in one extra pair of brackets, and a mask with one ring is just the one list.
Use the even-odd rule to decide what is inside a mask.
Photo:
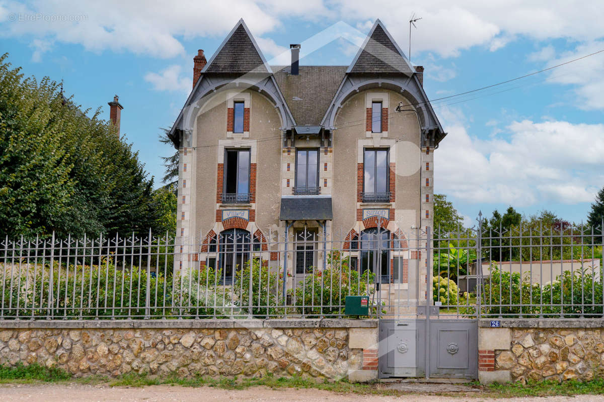
[[(0, 238), (172, 230), (138, 153), (60, 84), (0, 57)], [(90, 116), (88, 116), (90, 115)], [(162, 202), (158, 202), (162, 201)]]

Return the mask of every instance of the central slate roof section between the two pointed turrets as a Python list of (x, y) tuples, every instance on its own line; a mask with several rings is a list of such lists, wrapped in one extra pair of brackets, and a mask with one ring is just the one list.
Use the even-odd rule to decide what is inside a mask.
[(271, 66), (297, 125), (320, 125), (348, 66), (300, 66), (290, 75), (289, 66)]

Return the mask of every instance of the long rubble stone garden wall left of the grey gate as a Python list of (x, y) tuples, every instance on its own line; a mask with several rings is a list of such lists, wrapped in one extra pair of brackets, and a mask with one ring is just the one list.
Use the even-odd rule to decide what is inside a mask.
[(82, 377), (377, 378), (377, 321), (350, 319), (0, 321), (0, 364)]

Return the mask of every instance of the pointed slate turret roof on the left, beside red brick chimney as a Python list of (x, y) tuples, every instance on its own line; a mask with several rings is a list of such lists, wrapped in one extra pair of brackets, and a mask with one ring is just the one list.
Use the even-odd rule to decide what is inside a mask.
[(202, 73), (271, 74), (271, 68), (260, 51), (248, 27), (240, 19), (218, 50), (205, 65)]

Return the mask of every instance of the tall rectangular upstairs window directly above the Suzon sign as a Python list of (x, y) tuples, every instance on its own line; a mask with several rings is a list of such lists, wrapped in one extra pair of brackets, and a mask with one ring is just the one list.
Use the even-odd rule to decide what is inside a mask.
[(390, 202), (388, 189), (388, 149), (365, 149), (363, 201)]

